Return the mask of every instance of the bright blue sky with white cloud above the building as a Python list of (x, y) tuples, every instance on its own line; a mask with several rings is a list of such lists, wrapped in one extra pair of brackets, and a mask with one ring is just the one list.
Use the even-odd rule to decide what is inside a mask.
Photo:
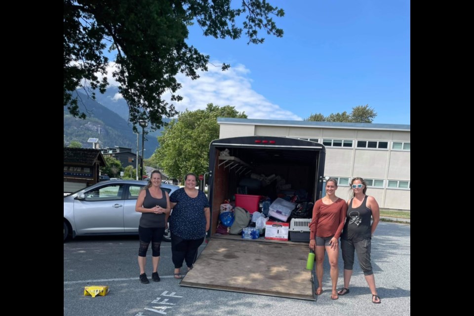
[(274, 19), (283, 38), (261, 33), (263, 44), (247, 45), (244, 36), (221, 40), (190, 29), (189, 44), (231, 69), (210, 65), (197, 80), (179, 75), (178, 111), (213, 103), (248, 118), (302, 120), (368, 104), (374, 123), (410, 124), (410, 1), (269, 2), (285, 11)]

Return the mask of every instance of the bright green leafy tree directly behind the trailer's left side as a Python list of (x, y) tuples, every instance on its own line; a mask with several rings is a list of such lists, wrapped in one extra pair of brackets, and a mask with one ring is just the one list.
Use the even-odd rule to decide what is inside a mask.
[(209, 143), (219, 138), (217, 118), (247, 118), (235, 107), (207, 104), (205, 110), (181, 113), (171, 121), (158, 137), (159, 148), (152, 159), (164, 172), (182, 180), (188, 172), (196, 174), (207, 171), (209, 166)]

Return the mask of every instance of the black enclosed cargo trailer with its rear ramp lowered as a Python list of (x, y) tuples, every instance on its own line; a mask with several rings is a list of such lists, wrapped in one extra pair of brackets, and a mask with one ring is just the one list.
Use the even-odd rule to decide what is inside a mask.
[[(219, 235), (220, 205), (242, 194), (242, 181), (260, 174), (275, 181), (245, 194), (275, 199), (278, 193), (305, 191), (307, 200), (322, 196), (325, 147), (295, 138), (246, 136), (214, 140), (209, 146), (209, 240), (195, 267), (180, 285), (315, 299), (314, 277), (306, 270), (308, 244)], [(284, 185), (276, 185), (284, 179)], [(245, 181), (243, 181), (245, 183)], [(281, 180), (280, 180), (281, 183)]]

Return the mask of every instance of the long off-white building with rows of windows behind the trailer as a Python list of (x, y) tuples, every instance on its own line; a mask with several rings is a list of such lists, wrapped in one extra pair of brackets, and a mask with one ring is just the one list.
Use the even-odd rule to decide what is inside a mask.
[(338, 179), (337, 196), (350, 197), (361, 177), (381, 208), (410, 209), (410, 125), (217, 118), (219, 138), (280, 136), (326, 147), (324, 173)]

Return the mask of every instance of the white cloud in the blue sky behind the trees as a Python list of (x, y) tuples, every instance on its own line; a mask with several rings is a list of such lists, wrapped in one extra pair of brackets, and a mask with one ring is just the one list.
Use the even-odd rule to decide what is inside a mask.
[[(213, 62), (220, 65), (220, 62)], [(107, 78), (111, 85), (118, 85), (112, 78), (113, 66), (109, 67)], [(238, 64), (227, 71), (220, 67), (209, 65), (207, 72), (199, 72), (199, 79), (192, 80), (185, 75), (178, 74), (176, 78), (182, 84), (177, 91), (183, 97), (180, 102), (174, 102), (177, 111), (195, 111), (205, 109), (208, 103), (225, 106), (230, 105), (238, 112), (245, 112), (248, 118), (261, 119), (289, 119), (302, 120), (296, 114), (280, 108), (278, 105), (268, 101), (263, 95), (252, 89), (250, 70), (244, 65)], [(114, 99), (121, 98), (116, 94)], [(170, 93), (163, 95), (164, 100), (170, 99)]]

